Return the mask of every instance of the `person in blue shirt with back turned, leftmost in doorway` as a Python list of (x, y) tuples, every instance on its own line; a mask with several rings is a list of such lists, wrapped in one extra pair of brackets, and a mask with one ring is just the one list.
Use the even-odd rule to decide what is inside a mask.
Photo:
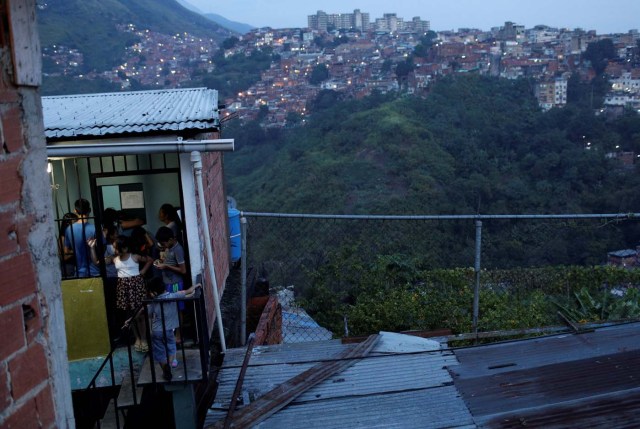
[(100, 275), (98, 265), (91, 258), (89, 242), (96, 238), (96, 227), (89, 223), (91, 204), (84, 198), (76, 200), (75, 212), (78, 220), (69, 225), (64, 232), (65, 252), (73, 252), (76, 258), (76, 274), (78, 277)]

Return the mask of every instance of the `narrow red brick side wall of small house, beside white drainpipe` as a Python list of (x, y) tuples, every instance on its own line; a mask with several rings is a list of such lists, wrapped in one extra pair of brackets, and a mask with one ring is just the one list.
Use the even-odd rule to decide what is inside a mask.
[[(212, 137), (217, 138), (217, 136)], [(207, 217), (211, 247), (213, 249), (213, 264), (216, 271), (219, 296), (222, 297), (224, 284), (229, 275), (229, 221), (227, 214), (227, 194), (224, 186), (223, 155), (220, 152), (202, 154), (202, 185), (204, 199), (207, 202)], [(206, 269), (206, 268), (205, 268)], [(207, 278), (209, 273), (207, 272)], [(205, 288), (206, 291), (211, 291)], [(207, 319), (212, 330), (215, 320), (213, 293), (207, 296)]]

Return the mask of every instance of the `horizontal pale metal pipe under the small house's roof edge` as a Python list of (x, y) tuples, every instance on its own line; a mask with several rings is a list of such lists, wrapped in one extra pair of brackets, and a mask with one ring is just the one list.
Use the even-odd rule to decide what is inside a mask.
[(138, 139), (132, 141), (112, 139), (78, 141), (75, 143), (47, 144), (47, 157), (70, 158), (110, 155), (146, 155), (157, 153), (229, 152), (234, 150), (233, 139), (173, 140)]

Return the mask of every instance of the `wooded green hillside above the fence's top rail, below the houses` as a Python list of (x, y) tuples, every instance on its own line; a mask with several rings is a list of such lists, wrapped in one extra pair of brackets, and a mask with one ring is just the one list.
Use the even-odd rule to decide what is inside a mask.
[(543, 113), (531, 93), (526, 80), (459, 76), (426, 99), (336, 103), (293, 131), (231, 123), (224, 134), (238, 149), (227, 157), (229, 192), (254, 211), (637, 210), (638, 176), (605, 157), (616, 145), (640, 152), (637, 115), (607, 122), (572, 105)]

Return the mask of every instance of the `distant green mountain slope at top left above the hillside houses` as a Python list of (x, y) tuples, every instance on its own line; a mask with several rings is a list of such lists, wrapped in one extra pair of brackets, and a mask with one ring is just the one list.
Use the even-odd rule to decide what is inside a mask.
[[(164, 34), (188, 32), (222, 41), (230, 32), (180, 6), (174, 0), (51, 0), (38, 9), (43, 47), (65, 45), (84, 54), (84, 70), (106, 70), (117, 65), (125, 47), (136, 37), (116, 25)], [(47, 69), (44, 70), (47, 72)]]

